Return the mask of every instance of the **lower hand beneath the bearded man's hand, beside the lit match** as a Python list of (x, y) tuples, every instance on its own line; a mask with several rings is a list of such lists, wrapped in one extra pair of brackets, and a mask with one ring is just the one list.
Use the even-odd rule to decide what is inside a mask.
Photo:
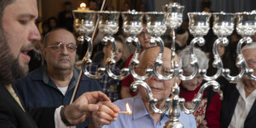
[(111, 121), (116, 121), (118, 116), (119, 107), (116, 107), (111, 102), (98, 102), (98, 111), (92, 112), (92, 121), (89, 128), (98, 128), (102, 125), (110, 125)]

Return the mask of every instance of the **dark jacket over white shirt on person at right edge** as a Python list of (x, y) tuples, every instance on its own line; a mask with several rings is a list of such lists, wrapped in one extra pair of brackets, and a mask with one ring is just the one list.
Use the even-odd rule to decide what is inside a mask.
[[(235, 112), (235, 106), (239, 99), (239, 92), (235, 88), (235, 84), (225, 85), (223, 88), (224, 98), (221, 102), (220, 111), (220, 127), (226, 128), (230, 125), (232, 116)], [(243, 112), (243, 111), (241, 111)], [(244, 121), (244, 128), (251, 128), (256, 126), (256, 102), (254, 101), (248, 116)]]

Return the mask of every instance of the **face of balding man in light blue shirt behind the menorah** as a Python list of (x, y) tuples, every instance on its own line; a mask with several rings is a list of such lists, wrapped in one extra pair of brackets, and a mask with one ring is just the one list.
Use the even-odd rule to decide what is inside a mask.
[[(154, 48), (153, 48), (154, 49)], [(150, 54), (144, 55), (144, 58), (140, 61), (140, 66), (138, 68), (138, 73), (140, 75), (145, 74), (145, 69), (147, 67), (153, 67), (154, 65), (154, 59), (158, 52), (155, 52), (154, 50), (150, 50)], [(162, 73), (163, 75), (167, 75), (165, 71), (168, 71), (171, 69), (171, 54), (164, 54), (163, 55), (163, 66), (159, 68), (159, 73)], [(170, 80), (164, 81), (159, 80), (159, 78), (155, 77), (154, 75), (151, 75), (149, 78), (145, 79), (145, 82), (149, 85), (149, 88), (151, 89), (154, 98), (156, 98), (158, 101), (164, 101), (167, 97), (170, 96), (172, 93), (172, 88), (174, 83), (178, 82), (178, 78), (172, 78)], [(147, 100), (147, 92), (145, 88), (139, 87), (139, 92), (141, 97), (143, 99)]]

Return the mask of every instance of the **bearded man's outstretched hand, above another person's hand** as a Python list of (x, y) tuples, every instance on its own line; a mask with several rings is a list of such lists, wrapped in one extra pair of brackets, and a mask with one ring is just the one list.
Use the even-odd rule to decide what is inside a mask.
[(82, 123), (91, 116), (92, 111), (99, 110), (100, 105), (97, 102), (111, 102), (111, 100), (102, 92), (85, 92), (72, 104), (65, 107), (64, 115), (73, 125)]

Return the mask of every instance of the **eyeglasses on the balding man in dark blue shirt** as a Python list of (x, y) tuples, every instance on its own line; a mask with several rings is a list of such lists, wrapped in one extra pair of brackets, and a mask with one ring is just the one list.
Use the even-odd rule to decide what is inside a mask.
[(46, 48), (51, 48), (51, 50), (60, 51), (64, 49), (64, 46), (69, 50), (70, 52), (73, 52), (77, 50), (77, 45), (73, 43), (64, 44), (62, 42), (56, 42), (54, 45), (47, 45)]

